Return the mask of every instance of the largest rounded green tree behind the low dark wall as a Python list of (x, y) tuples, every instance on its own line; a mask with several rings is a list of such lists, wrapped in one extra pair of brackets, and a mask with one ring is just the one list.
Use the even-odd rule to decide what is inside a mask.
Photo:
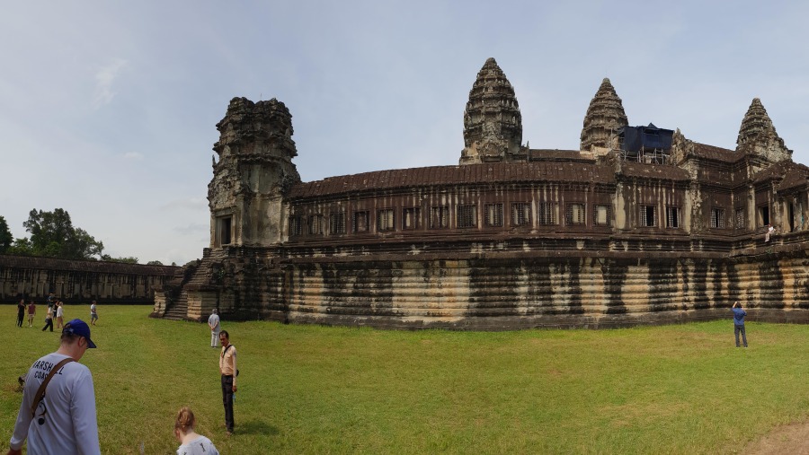
[(94, 259), (102, 255), (104, 245), (81, 228), (74, 228), (70, 214), (57, 208), (53, 212), (32, 209), (22, 223), (31, 232), (34, 256), (64, 259)]

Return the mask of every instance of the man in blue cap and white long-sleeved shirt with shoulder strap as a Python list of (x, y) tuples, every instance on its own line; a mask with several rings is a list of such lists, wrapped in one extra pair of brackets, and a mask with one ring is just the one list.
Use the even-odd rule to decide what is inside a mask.
[[(93, 347), (90, 328), (83, 320), (73, 319), (62, 330), (58, 351), (31, 365), (9, 444), (10, 455), (22, 454), (26, 439), (31, 454), (101, 453), (93, 375), (89, 368), (78, 363), (84, 352)], [(48, 389), (44, 395), (40, 394), (43, 382)]]

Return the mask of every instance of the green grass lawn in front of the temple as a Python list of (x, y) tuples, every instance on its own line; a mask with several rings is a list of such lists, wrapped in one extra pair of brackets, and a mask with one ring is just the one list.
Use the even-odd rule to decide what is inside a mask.
[[(89, 307), (66, 307), (89, 318)], [(225, 436), (205, 324), (102, 306), (84, 355), (103, 453), (173, 453), (190, 406), (222, 453), (732, 453), (809, 413), (809, 326), (730, 319), (616, 330), (481, 333), (223, 324), (238, 348), (236, 435)], [(66, 318), (66, 319), (67, 319)], [(0, 307), (5, 451), (16, 377), (58, 333)], [(27, 324), (26, 324), (27, 325)]]

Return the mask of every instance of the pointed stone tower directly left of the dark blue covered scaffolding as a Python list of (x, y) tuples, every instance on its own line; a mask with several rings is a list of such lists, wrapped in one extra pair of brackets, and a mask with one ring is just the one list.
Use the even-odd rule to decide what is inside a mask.
[(582, 151), (597, 155), (612, 150), (611, 140), (618, 127), (627, 127), (629, 120), (615, 87), (604, 78), (599, 91), (590, 101), (582, 128)]

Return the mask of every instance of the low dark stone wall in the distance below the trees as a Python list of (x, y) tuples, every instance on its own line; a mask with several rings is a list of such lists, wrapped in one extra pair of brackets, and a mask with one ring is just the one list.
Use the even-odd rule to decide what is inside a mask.
[(54, 293), (68, 303), (151, 304), (177, 268), (0, 255), (0, 302), (40, 302)]

